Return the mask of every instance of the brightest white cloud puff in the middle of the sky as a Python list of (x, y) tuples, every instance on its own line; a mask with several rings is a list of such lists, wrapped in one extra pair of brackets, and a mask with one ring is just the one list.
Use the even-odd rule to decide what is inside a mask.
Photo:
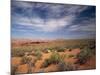
[(47, 32), (53, 32), (70, 25), (72, 20), (73, 16), (67, 16), (60, 19), (50, 19), (44, 22), (44, 25), (42, 25), (40, 29)]

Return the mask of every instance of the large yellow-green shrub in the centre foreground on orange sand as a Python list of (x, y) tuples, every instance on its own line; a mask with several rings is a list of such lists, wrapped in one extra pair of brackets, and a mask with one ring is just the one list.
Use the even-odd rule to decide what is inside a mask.
[(42, 67), (47, 67), (50, 64), (58, 64), (62, 62), (64, 58), (65, 58), (65, 55), (60, 56), (59, 53), (54, 52), (52, 53), (49, 59), (45, 60)]

